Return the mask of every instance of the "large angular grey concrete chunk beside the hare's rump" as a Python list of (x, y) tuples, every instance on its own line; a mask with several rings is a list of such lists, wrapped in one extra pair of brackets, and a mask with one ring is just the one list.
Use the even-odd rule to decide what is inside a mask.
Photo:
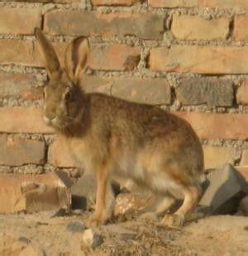
[(232, 214), (246, 195), (247, 183), (230, 164), (207, 175), (209, 185), (199, 202), (209, 214)]

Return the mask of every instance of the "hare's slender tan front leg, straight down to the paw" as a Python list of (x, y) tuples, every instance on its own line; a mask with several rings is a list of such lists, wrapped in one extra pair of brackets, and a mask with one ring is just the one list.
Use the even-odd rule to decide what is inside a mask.
[(96, 207), (90, 218), (90, 222), (94, 225), (101, 225), (111, 217), (113, 208), (113, 195), (107, 166), (99, 169), (96, 173), (96, 177)]

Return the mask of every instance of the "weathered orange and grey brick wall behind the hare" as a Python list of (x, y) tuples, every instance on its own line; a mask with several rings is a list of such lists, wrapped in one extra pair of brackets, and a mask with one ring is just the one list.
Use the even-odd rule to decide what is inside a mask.
[(0, 2), (0, 171), (77, 169), (41, 118), (44, 63), (34, 27), (63, 60), (88, 36), (83, 86), (158, 104), (192, 123), (207, 168), (248, 167), (247, 0)]

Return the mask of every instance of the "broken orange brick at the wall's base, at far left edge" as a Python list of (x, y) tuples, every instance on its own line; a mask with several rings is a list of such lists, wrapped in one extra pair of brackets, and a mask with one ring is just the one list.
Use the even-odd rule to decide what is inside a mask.
[(60, 171), (42, 175), (0, 175), (0, 213), (69, 209), (72, 182)]

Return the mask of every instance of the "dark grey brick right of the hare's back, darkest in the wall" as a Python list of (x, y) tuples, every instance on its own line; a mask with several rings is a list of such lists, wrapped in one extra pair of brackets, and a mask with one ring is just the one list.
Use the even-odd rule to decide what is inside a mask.
[(234, 98), (231, 80), (217, 78), (189, 78), (176, 89), (176, 97), (182, 104), (210, 106), (231, 106)]

